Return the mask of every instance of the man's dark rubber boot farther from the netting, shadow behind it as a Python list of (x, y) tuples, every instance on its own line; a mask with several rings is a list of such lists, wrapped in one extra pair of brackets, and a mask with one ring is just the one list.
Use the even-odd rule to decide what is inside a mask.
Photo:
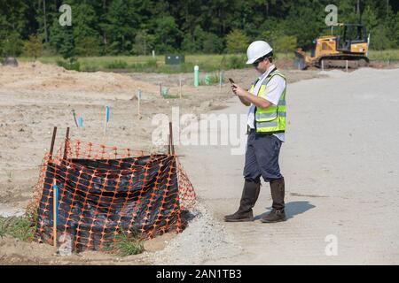
[(286, 187), (284, 178), (270, 181), (271, 198), (273, 200), (272, 210), (268, 215), (261, 219), (263, 223), (273, 223), (286, 221), (286, 212), (284, 210), (284, 196)]

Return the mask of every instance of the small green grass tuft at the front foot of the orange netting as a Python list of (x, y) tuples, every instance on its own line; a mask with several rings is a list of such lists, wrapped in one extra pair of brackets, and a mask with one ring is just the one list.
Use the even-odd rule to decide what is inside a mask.
[(118, 256), (133, 256), (144, 252), (144, 241), (136, 233), (120, 232), (108, 251)]

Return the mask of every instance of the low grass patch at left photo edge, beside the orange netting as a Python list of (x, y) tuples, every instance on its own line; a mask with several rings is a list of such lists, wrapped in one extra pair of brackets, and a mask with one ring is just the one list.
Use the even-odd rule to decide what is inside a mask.
[(35, 236), (35, 223), (27, 217), (0, 217), (0, 236), (12, 236), (20, 241), (33, 241)]

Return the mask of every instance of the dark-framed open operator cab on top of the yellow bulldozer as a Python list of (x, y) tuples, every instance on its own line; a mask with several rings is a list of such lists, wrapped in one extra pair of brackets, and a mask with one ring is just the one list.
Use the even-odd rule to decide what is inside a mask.
[(342, 24), (340, 34), (337, 35), (337, 50), (351, 52), (351, 46), (355, 43), (367, 43), (367, 33), (364, 25)]

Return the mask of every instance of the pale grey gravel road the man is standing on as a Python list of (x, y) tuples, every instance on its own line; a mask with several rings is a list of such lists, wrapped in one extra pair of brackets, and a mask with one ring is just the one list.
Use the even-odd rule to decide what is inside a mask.
[[(231, 145), (179, 146), (209, 215), (158, 264), (399, 264), (399, 69), (325, 74), (288, 86), (287, 221), (223, 223), (239, 204), (244, 156), (231, 155)], [(215, 114), (246, 113), (236, 97), (227, 105)], [(264, 183), (257, 218), (270, 205)]]

